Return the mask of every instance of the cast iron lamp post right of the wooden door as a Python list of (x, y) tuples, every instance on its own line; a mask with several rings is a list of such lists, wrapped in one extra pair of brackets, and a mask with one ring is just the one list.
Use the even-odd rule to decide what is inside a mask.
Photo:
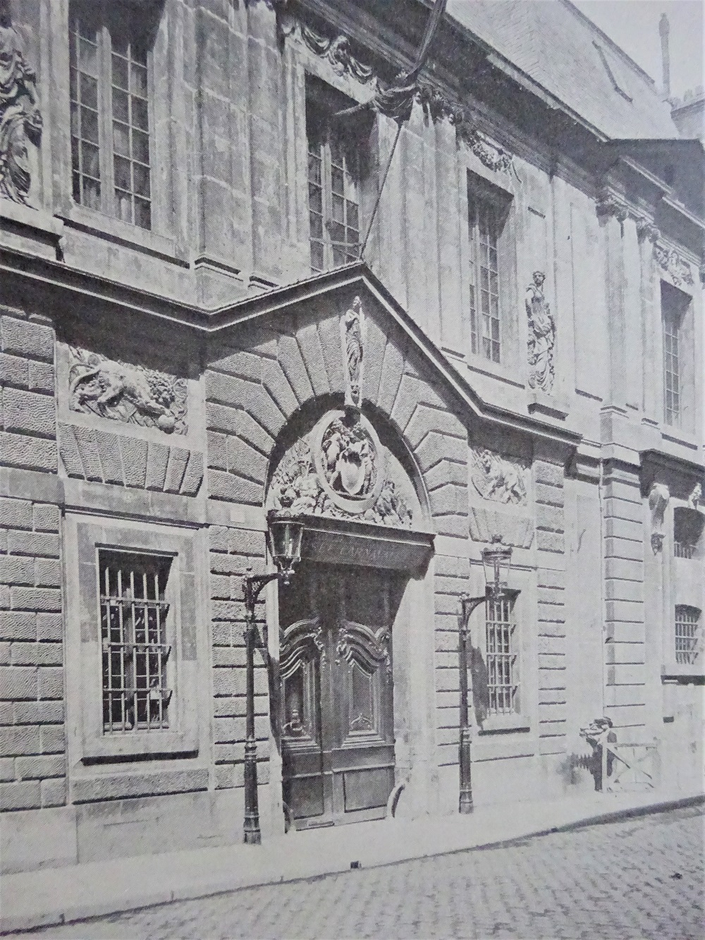
[(458, 812), (473, 811), (473, 786), (470, 770), (470, 723), (468, 721), (467, 700), (467, 647), (470, 640), (470, 615), (487, 597), (498, 600), (507, 590), (511, 549), (504, 545), (493, 544), (482, 549), (482, 567), (485, 572), (485, 584), (488, 590), (481, 597), (468, 597), (461, 594), (461, 623), (459, 631), (458, 658), (461, 667), (461, 728), (460, 728), (460, 772), (461, 791), (458, 800)]

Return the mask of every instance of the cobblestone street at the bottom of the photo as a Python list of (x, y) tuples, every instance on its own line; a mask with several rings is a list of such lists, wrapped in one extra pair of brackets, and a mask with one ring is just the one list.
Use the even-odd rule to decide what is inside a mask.
[[(705, 935), (703, 807), (68, 924), (99, 938)], [(24, 934), (26, 935), (26, 934)]]

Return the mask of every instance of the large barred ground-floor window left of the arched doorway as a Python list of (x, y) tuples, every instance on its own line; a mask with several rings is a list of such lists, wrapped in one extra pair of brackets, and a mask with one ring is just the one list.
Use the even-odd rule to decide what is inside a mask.
[(99, 553), (104, 733), (169, 727), (171, 557)]

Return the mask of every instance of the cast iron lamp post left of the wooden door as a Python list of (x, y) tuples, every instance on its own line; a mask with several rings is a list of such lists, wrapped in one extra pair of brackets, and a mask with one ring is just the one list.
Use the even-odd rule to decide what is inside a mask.
[(261, 842), (257, 792), (257, 740), (255, 738), (256, 645), (262, 650), (265, 663), (269, 668), (269, 656), (267, 655), (266, 646), (258, 637), (255, 606), (262, 587), (269, 584), (270, 581), (274, 581), (274, 578), (281, 580), (282, 584), (289, 584), (294, 565), (301, 560), (301, 538), (304, 534), (304, 524), (296, 519), (277, 518), (270, 512), (267, 522), (269, 524), (272, 556), (277, 571), (270, 574), (251, 574), (244, 579), (244, 645), (247, 685), (245, 698), (243, 831), (244, 841), (247, 845), (258, 845)]

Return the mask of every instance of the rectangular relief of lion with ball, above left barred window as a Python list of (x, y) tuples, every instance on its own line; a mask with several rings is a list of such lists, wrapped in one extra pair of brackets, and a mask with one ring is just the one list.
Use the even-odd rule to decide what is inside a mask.
[(69, 382), (71, 411), (158, 428), (166, 434), (186, 433), (184, 379), (71, 349)]

